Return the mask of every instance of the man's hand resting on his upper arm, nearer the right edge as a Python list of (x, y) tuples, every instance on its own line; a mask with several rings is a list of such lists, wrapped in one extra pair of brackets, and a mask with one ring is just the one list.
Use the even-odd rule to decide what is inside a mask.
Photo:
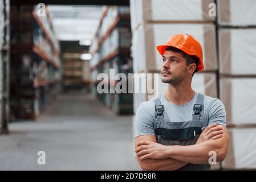
[(206, 129), (201, 133), (200, 137), (197, 139), (197, 143), (204, 142), (206, 140), (221, 138), (223, 134), (222, 127), (218, 126), (217, 123), (206, 127)]

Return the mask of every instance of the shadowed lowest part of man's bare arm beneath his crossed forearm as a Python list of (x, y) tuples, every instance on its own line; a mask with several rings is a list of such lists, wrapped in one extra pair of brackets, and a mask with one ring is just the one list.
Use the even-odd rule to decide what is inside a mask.
[(140, 161), (140, 166), (145, 171), (177, 170), (186, 166), (186, 162), (176, 159), (145, 159)]

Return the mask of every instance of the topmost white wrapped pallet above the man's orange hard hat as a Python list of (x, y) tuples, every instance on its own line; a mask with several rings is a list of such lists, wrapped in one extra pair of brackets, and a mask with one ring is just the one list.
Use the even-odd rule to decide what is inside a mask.
[[(209, 5), (213, 0), (130, 0), (131, 26), (147, 22), (213, 22)], [(212, 6), (210, 6), (212, 7)]]

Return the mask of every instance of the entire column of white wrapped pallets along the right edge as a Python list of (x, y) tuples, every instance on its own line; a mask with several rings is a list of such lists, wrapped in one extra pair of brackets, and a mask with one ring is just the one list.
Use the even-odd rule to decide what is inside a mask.
[(220, 99), (230, 134), (223, 168), (256, 168), (256, 2), (217, 1)]

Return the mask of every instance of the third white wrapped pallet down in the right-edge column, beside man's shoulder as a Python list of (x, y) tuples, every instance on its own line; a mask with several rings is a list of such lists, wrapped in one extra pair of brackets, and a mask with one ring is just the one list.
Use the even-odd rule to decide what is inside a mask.
[(220, 100), (226, 108), (227, 124), (256, 124), (256, 78), (221, 78)]

